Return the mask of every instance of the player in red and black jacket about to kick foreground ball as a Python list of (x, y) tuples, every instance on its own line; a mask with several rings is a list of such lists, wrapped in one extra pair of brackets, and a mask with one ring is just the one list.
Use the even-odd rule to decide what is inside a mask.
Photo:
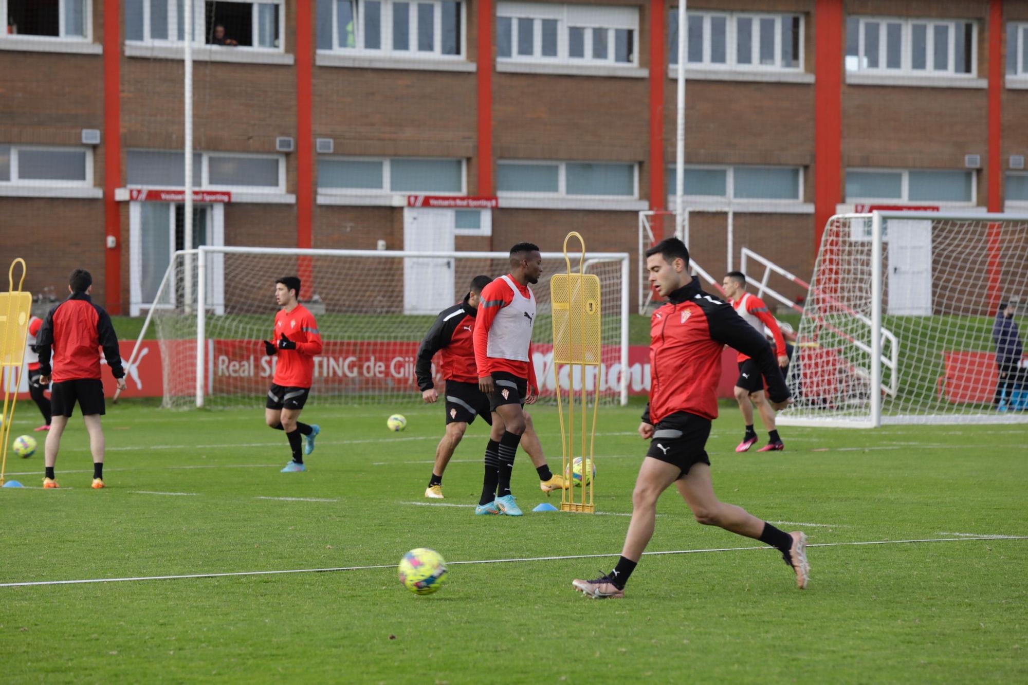
[(774, 353), (729, 304), (700, 290), (699, 281), (689, 275), (689, 250), (682, 241), (661, 241), (646, 255), (650, 284), (667, 299), (650, 322), (650, 403), (638, 428), (644, 439), (653, 441), (635, 480), (632, 519), (621, 558), (609, 574), (572, 584), (593, 599), (623, 598), (625, 583), (653, 537), (657, 499), (674, 483), (698, 522), (776, 547), (795, 570), (802, 589), (809, 573), (807, 536), (779, 531), (741, 507), (720, 502), (705, 449), (710, 422), (718, 418), (723, 346), (754, 358), (768, 378), (772, 404), (780, 409), (788, 403), (790, 393)]

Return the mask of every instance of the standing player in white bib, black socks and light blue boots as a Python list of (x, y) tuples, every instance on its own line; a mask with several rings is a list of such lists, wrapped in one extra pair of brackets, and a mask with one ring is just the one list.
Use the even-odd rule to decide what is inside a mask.
[(533, 404), (539, 392), (530, 349), (536, 296), (528, 284), (539, 283), (543, 256), (538, 245), (518, 243), (511, 248), (510, 260), (510, 274), (482, 289), (475, 317), (478, 388), (488, 395), (492, 411), (482, 496), (475, 507), (479, 515), (521, 515), (511, 494), (511, 471), (527, 426), (524, 405)]

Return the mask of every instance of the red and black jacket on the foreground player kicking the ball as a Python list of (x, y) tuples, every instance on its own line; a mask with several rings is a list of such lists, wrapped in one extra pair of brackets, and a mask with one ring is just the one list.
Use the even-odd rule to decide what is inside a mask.
[(642, 421), (657, 424), (676, 411), (717, 419), (726, 345), (752, 357), (772, 401), (788, 399), (771, 346), (731, 304), (703, 292), (696, 277), (667, 299), (650, 320), (650, 403)]

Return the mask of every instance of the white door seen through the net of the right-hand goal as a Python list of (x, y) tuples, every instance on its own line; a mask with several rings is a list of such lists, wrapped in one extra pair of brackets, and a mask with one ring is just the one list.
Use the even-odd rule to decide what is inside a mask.
[(931, 316), (931, 221), (889, 219), (888, 314)]

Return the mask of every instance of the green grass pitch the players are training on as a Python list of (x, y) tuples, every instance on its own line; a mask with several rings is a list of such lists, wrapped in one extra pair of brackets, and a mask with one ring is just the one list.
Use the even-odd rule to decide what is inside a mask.
[[(0, 587), (5, 682), (1024, 682), (1028, 540), (846, 545), (1028, 534), (1025, 431), (784, 428), (787, 450), (737, 456), (736, 410), (708, 449), (726, 501), (800, 528), (812, 580), (795, 587), (770, 549), (647, 556), (627, 598), (592, 602), (574, 577), (613, 557), (452, 565), (415, 597), (395, 565), (412, 547), (449, 562), (616, 553), (626, 516), (476, 517), (423, 502), (441, 409), (310, 408), (323, 428), (304, 474), (280, 474), (282, 433), (262, 411), (169, 412), (122, 403), (105, 418), (103, 491), (88, 489), (76, 417), (60, 491), (2, 490), (0, 582), (390, 565), (335, 573)], [(14, 434), (35, 425), (22, 405)], [(552, 408), (537, 408), (557, 455)], [(627, 513), (645, 452), (637, 407), (604, 409), (597, 508)], [(484, 428), (445, 475), (447, 504), (471, 505)], [(188, 467), (188, 468), (187, 468)], [(41, 456), (8, 472), (38, 485)], [(11, 477), (11, 476), (8, 476)], [(527, 458), (514, 489), (546, 498)], [(194, 493), (147, 495), (140, 491)], [(259, 497), (319, 498), (329, 502)], [(695, 524), (673, 492), (650, 550), (759, 546)]]

